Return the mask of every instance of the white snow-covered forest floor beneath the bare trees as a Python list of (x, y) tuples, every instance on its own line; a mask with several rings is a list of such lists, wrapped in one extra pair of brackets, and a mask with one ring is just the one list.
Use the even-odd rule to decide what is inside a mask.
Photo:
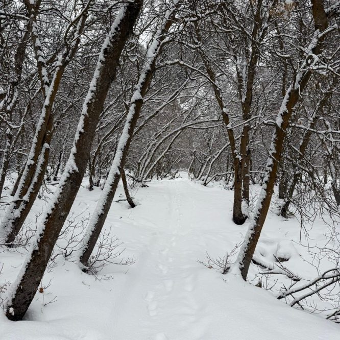
[[(98, 188), (89, 192), (86, 184), (72, 208), (80, 214), (78, 219), (93, 211), (101, 193)], [(285, 280), (282, 275), (269, 279), (269, 285), (280, 280), (269, 292), (197, 261), (205, 261), (207, 253), (223, 257), (242, 240), (247, 223), (236, 226), (231, 221), (232, 191), (187, 179), (148, 184), (132, 190), (136, 208), (129, 208), (126, 201), (113, 203), (106, 222), (107, 230), (111, 227), (111, 234), (124, 241), (122, 256), (133, 256), (136, 262), (109, 264), (95, 277), (59, 256), (43, 278), (47, 288), (37, 293), (25, 321), (10, 322), (0, 313), (0, 339), (340, 338), (339, 325), (275, 298)], [(122, 188), (116, 199), (119, 195), (124, 198)], [(32, 226), (44, 207), (44, 200), (35, 204)], [(309, 230), (314, 243), (325, 241), (327, 233), (320, 221)], [(318, 272), (304, 261), (310, 255), (299, 239), (298, 221), (270, 213), (257, 254), (267, 260), (287, 255), (289, 269), (311, 279)], [(14, 280), (25, 250), (0, 250), (1, 285)], [(322, 265), (328, 268), (327, 261)], [(252, 265), (250, 279), (258, 272)]]

